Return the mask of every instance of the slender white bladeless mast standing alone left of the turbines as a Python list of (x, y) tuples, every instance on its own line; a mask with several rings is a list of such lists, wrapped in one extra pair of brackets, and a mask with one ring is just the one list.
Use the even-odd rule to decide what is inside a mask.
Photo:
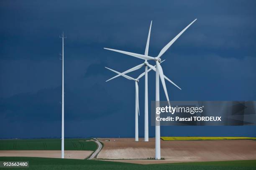
[(64, 32), (62, 32), (61, 158), (64, 158)]

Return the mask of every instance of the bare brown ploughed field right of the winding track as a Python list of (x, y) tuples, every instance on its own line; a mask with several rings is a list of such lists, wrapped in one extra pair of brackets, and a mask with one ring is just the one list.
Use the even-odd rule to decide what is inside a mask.
[[(97, 155), (101, 159), (146, 159), (154, 157), (155, 142), (135, 142), (133, 138), (99, 138), (104, 143)], [(110, 140), (110, 141), (107, 141)], [(115, 140), (115, 141), (114, 141)], [(161, 157), (165, 160), (116, 160), (130, 163), (177, 163), (222, 160), (255, 160), (253, 140), (161, 140)]]

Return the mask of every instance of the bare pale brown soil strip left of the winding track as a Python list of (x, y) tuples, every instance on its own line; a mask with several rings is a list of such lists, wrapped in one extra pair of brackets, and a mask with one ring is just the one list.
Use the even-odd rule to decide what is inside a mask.
[[(65, 158), (85, 159), (92, 154), (88, 150), (65, 150)], [(0, 150), (0, 157), (41, 157), (41, 158), (61, 158), (61, 150)]]

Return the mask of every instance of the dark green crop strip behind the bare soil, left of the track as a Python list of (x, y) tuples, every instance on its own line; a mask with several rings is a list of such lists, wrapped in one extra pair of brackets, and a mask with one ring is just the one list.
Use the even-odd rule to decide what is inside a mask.
[[(65, 139), (65, 150), (96, 150), (97, 144), (89, 138)], [(61, 150), (61, 139), (0, 140), (0, 150)]]

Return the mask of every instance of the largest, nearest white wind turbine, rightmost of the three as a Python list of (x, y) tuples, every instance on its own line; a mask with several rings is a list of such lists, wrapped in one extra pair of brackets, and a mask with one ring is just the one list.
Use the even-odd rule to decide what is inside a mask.
[[(163, 69), (161, 67), (161, 65), (159, 64), (161, 62), (161, 56), (164, 54), (164, 52), (166, 52), (166, 50), (169, 49), (169, 47), (179, 38), (180, 35), (182, 35), (182, 33), (184, 31), (187, 30), (187, 28), (189, 28), (190, 25), (192, 25), (197, 19), (195, 19), (194, 21), (192, 21), (192, 23), (190, 23), (189, 25), (187, 25), (186, 28), (184, 28), (181, 32), (179, 32), (178, 35), (176, 35), (176, 37), (174, 37), (166, 46), (164, 46), (164, 48), (159, 52), (159, 54), (156, 57), (151, 57), (148, 55), (142, 55), (142, 54), (137, 54), (137, 53), (133, 53), (133, 52), (126, 52), (126, 51), (121, 51), (121, 50), (114, 50), (114, 49), (110, 49), (110, 48), (104, 48), (106, 50), (112, 50), (115, 52), (120, 52), (126, 55), (131, 55), (133, 57), (137, 57), (143, 60), (154, 60), (156, 62), (156, 104), (159, 101), (159, 76), (164, 88), (164, 93), (166, 96), (166, 99), (170, 105), (169, 102), (169, 97), (168, 97), (168, 93), (167, 93), (167, 89), (166, 89), (166, 85), (165, 85), (165, 81), (164, 81), (164, 73), (163, 73)], [(150, 67), (150, 65), (148, 65)], [(157, 107), (157, 106), (156, 106)], [(157, 160), (161, 159), (161, 150), (160, 150), (160, 125), (156, 125), (156, 154), (155, 154), (155, 158)]]

